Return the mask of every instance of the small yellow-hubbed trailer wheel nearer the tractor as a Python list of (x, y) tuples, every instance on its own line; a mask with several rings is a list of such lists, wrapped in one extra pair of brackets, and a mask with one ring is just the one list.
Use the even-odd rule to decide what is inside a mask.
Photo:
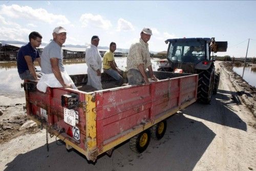
[(151, 127), (151, 137), (156, 140), (163, 138), (166, 131), (166, 120), (163, 120)]

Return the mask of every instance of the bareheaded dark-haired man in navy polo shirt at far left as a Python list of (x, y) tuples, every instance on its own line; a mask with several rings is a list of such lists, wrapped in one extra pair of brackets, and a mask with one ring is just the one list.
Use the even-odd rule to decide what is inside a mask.
[(17, 67), (21, 79), (39, 80), (41, 75), (35, 71), (33, 62), (36, 60), (41, 67), (39, 52), (36, 50), (41, 45), (41, 39), (41, 34), (33, 31), (29, 34), (29, 43), (19, 49)]

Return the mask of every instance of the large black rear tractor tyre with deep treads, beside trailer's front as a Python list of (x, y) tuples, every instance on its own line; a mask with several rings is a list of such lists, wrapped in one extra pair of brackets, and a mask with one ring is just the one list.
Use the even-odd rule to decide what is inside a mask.
[(197, 98), (199, 102), (209, 104), (214, 89), (215, 68), (212, 63), (207, 70), (199, 72)]

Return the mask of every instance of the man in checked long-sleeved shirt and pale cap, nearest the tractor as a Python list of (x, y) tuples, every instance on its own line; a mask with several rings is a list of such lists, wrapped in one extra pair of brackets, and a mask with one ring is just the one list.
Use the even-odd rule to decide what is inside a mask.
[(149, 28), (143, 28), (140, 33), (140, 39), (138, 42), (130, 47), (127, 56), (127, 79), (130, 85), (149, 84), (146, 69), (150, 72), (152, 80), (158, 79), (153, 73), (152, 63), (150, 59), (150, 51), (148, 50), (147, 41), (152, 36), (152, 30)]

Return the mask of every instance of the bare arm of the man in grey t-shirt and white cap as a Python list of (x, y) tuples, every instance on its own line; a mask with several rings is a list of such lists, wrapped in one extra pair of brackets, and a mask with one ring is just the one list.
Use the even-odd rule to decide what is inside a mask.
[(71, 88), (71, 84), (66, 84), (61, 76), (60, 70), (59, 70), (59, 65), (58, 65), (58, 58), (51, 58), (51, 66), (52, 66), (52, 72), (56, 79), (59, 81), (61, 86), (63, 88)]

